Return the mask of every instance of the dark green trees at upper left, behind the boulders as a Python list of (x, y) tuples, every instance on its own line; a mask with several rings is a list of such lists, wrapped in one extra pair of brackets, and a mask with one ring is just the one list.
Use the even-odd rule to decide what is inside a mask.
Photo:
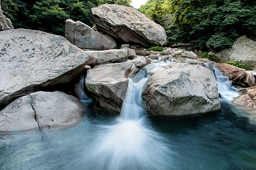
[(68, 18), (92, 27), (93, 7), (104, 3), (130, 6), (131, 0), (2, 0), (0, 3), (14, 28), (64, 35), (65, 20)]

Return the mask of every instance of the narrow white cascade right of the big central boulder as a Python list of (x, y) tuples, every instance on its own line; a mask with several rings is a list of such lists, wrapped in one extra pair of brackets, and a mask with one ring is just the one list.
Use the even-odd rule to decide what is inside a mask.
[(234, 97), (238, 96), (237, 88), (232, 86), (227, 76), (222, 75), (214, 62), (204, 63), (204, 66), (213, 71), (218, 84), (218, 92), (221, 94), (223, 100), (230, 102)]

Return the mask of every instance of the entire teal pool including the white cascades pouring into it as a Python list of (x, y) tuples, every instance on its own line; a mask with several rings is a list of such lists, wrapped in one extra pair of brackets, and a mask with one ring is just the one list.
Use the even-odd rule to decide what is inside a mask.
[(129, 80), (120, 115), (89, 100), (77, 126), (1, 136), (0, 169), (255, 169), (255, 125), (232, 112), (236, 89), (221, 92), (214, 74), (223, 96), (218, 112), (148, 116), (143, 73)]

